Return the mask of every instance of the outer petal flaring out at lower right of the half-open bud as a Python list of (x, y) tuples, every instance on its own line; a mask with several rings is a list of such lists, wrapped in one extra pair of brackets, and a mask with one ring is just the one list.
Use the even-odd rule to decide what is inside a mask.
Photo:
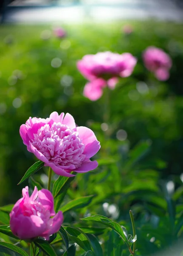
[(48, 236), (51, 236), (60, 229), (60, 226), (63, 223), (63, 213), (61, 211), (57, 212), (50, 222), (52, 222), (50, 229), (43, 234), (43, 237), (45, 237), (47, 240), (49, 239)]

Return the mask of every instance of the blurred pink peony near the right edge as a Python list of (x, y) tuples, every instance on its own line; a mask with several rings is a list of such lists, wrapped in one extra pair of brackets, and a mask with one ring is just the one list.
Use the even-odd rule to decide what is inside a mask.
[(169, 79), (172, 60), (162, 49), (153, 46), (148, 47), (143, 52), (143, 61), (146, 68), (152, 71), (158, 80), (166, 81)]

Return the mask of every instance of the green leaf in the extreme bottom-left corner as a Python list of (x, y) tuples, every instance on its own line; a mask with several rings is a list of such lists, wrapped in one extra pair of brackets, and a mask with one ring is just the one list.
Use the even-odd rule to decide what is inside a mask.
[[(8, 244), (4, 242), (0, 242), (0, 253), (5, 253), (5, 255), (16, 255), (16, 256), (29, 256), (24, 250), (20, 247), (17, 247), (13, 244)], [(1, 255), (1, 254), (0, 254)]]

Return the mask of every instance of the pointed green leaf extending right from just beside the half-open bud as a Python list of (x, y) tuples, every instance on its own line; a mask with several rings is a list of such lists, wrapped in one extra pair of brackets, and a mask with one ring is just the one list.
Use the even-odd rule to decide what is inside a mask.
[(63, 207), (60, 208), (62, 212), (67, 212), (70, 209), (77, 209), (86, 207), (88, 204), (91, 203), (92, 199), (95, 195), (87, 195), (77, 199), (70, 201), (69, 203), (65, 204)]

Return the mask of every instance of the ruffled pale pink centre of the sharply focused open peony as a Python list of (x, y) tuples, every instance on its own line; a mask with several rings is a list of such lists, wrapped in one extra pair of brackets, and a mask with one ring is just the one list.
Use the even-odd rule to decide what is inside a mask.
[(54, 122), (51, 126), (49, 124), (42, 126), (37, 134), (34, 134), (31, 143), (56, 166), (74, 169), (85, 159), (83, 154), (85, 145), (80, 140), (78, 132), (60, 122)]

